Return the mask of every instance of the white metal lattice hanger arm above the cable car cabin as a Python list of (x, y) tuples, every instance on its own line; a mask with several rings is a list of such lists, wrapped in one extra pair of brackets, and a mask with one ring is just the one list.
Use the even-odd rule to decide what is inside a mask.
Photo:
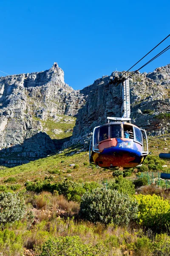
[(130, 92), (129, 92), (129, 79), (123, 82), (123, 102), (122, 102), (122, 117), (130, 118)]

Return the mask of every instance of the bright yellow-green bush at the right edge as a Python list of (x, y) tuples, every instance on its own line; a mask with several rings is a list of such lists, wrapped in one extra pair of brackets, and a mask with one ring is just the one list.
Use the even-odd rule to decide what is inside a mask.
[(139, 203), (138, 222), (145, 227), (161, 230), (170, 220), (170, 204), (157, 195), (135, 195)]

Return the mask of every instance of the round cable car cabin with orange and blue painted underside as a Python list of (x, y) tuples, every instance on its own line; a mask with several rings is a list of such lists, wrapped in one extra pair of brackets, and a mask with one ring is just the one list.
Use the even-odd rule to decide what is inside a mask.
[(148, 154), (146, 131), (128, 122), (97, 126), (90, 143), (89, 160), (103, 168), (140, 165)]

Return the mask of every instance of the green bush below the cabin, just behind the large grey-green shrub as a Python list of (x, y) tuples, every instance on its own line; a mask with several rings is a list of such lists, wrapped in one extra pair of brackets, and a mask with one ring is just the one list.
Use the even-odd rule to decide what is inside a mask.
[(133, 182), (131, 180), (124, 179), (122, 176), (115, 179), (115, 182), (112, 184), (112, 189), (116, 189), (127, 195), (135, 194), (135, 185)]

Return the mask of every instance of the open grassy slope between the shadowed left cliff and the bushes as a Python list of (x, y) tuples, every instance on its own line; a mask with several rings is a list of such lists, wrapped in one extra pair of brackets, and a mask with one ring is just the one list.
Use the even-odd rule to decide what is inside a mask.
[[(42, 180), (50, 175), (52, 175), (54, 181), (61, 181), (67, 178), (79, 182), (95, 180), (99, 181), (99, 183), (113, 177), (110, 170), (103, 170), (94, 165), (89, 165), (88, 159), (88, 152), (79, 152), (78, 149), (68, 149), (61, 154), (51, 155), (21, 166), (13, 168), (1, 166), (0, 184), (4, 185), (4, 180), (7, 180), (9, 176), (15, 177), (15, 183), (21, 184), (22, 186), (28, 180)], [(71, 164), (75, 164), (76, 168), (70, 166)], [(8, 185), (8, 182), (5, 184)]]

